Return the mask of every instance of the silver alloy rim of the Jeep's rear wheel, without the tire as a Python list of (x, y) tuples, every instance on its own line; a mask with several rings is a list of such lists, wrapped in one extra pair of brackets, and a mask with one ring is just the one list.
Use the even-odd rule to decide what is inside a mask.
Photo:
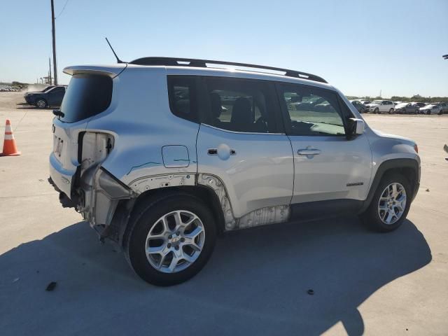
[(177, 210), (160, 217), (145, 242), (148, 262), (160, 272), (176, 273), (199, 258), (204, 248), (205, 229), (193, 212)]

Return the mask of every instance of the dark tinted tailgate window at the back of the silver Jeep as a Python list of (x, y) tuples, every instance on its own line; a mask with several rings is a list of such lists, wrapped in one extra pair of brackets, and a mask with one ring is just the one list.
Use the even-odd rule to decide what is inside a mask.
[(74, 75), (67, 88), (61, 111), (65, 123), (90, 118), (111, 104), (112, 78), (103, 75)]

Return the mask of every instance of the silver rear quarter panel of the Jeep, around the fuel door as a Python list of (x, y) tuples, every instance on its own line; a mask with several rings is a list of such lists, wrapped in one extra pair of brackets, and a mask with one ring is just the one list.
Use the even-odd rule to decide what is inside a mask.
[[(114, 78), (113, 90), (115, 111), (108, 116), (100, 113), (87, 125), (87, 131), (109, 130), (115, 134), (113, 151), (102, 167), (131, 188), (132, 181), (146, 176), (196, 174), (199, 124), (170, 111), (165, 67), (142, 71), (129, 65)], [(182, 160), (183, 165), (165, 167), (162, 148), (172, 145), (184, 146), (188, 156), (170, 158)]]

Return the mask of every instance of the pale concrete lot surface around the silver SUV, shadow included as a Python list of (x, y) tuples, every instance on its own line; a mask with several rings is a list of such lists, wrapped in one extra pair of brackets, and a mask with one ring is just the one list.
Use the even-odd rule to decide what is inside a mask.
[(0, 137), (10, 118), (22, 151), (0, 158), (1, 335), (447, 335), (448, 116), (365, 117), (419, 144), (399, 230), (348, 217), (232, 232), (195, 278), (157, 288), (60, 207), (51, 110), (20, 109), (20, 95), (0, 92)]

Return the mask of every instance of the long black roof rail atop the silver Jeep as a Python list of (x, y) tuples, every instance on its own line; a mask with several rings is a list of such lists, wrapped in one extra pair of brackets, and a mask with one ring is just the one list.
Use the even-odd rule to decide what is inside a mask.
[(221, 65), (233, 65), (233, 66), (243, 66), (245, 68), (255, 68), (255, 69), (267, 69), (274, 71), (284, 72), (284, 76), (296, 77), (307, 80), (314, 80), (316, 82), (327, 83), (322, 77), (313, 75), (311, 73), (306, 73), (302, 71), (295, 71), (290, 69), (276, 68), (274, 66), (265, 65), (255, 65), (247, 63), (237, 63), (237, 62), (225, 62), (225, 61), (213, 61), (211, 59), (195, 59), (195, 58), (176, 58), (176, 57), (143, 57), (139, 59), (134, 59), (130, 64), (137, 65), (165, 65), (165, 66), (197, 66), (207, 68), (207, 64), (221, 64)]

